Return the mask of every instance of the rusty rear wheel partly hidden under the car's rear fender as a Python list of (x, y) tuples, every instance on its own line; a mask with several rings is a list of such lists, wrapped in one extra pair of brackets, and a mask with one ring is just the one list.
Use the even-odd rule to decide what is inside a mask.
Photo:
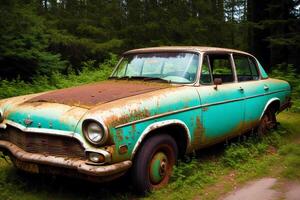
[(268, 132), (276, 128), (276, 111), (272, 108), (268, 108), (260, 120), (257, 133), (258, 135), (266, 135)]

